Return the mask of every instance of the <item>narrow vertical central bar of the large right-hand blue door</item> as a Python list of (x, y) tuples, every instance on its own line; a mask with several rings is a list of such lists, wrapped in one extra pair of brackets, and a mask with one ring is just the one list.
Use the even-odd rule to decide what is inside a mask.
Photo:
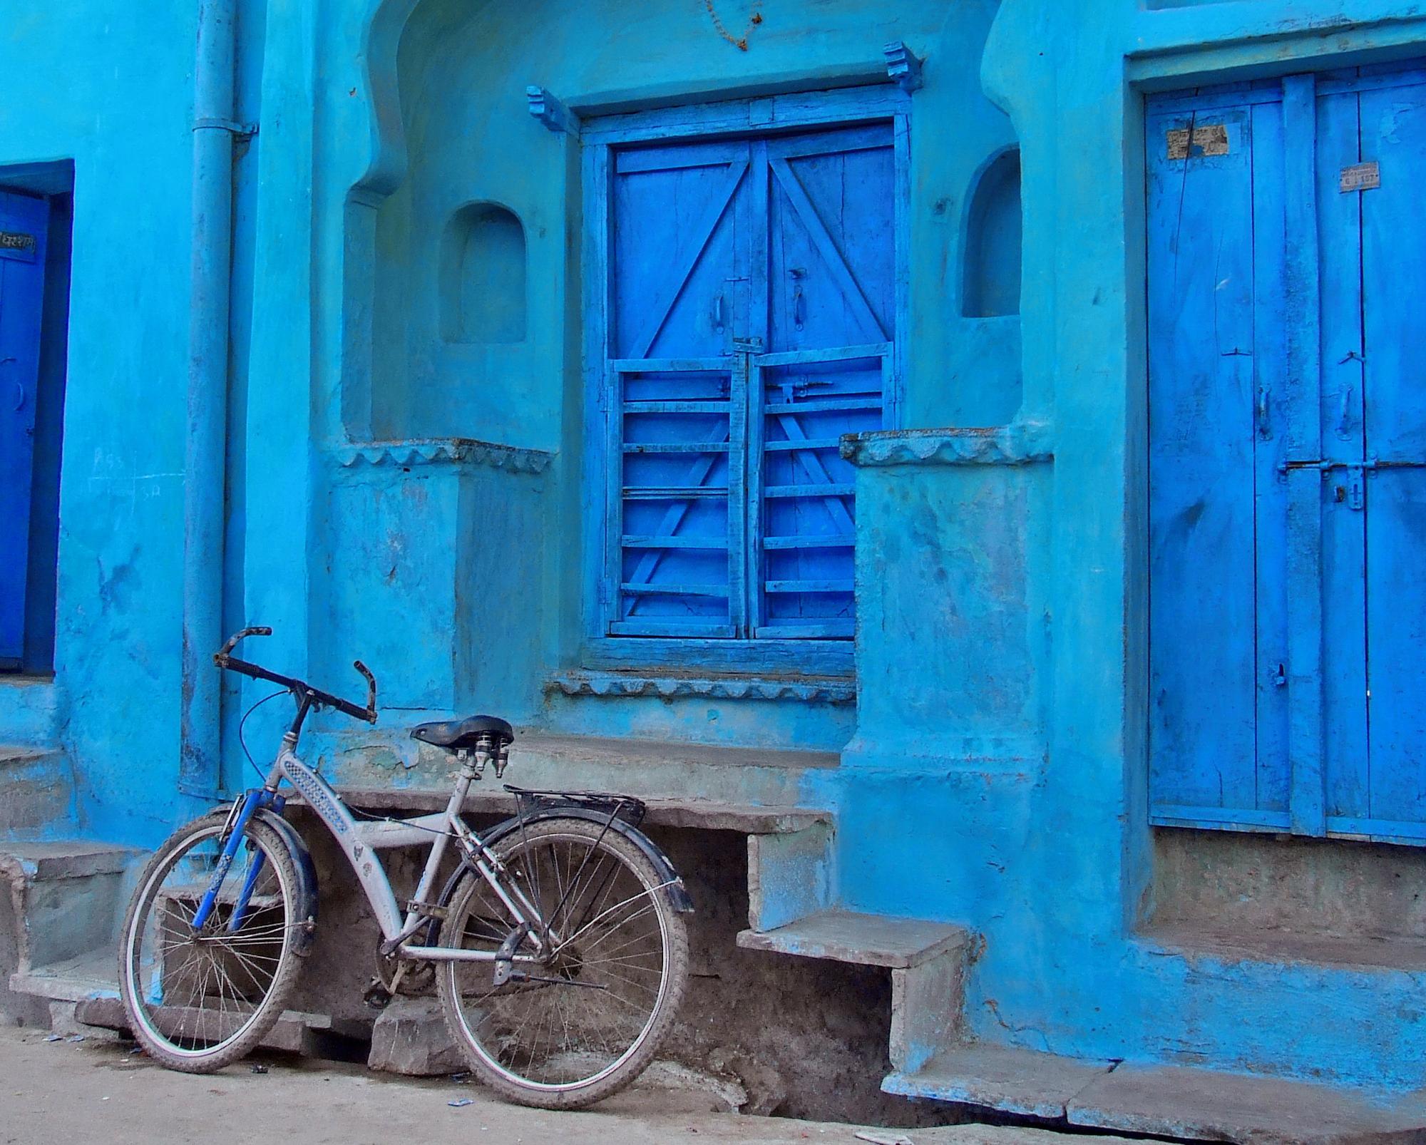
[[(1315, 458), (1320, 426), (1315, 77), (1282, 81), (1288, 452)], [(1326, 834), (1322, 760), (1322, 478), (1288, 472), (1288, 754), (1292, 830)]]

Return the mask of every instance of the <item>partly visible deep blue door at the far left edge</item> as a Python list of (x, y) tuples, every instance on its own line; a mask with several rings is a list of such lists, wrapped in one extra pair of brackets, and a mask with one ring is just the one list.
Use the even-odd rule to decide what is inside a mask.
[(0, 669), (21, 666), (48, 204), (0, 191)]

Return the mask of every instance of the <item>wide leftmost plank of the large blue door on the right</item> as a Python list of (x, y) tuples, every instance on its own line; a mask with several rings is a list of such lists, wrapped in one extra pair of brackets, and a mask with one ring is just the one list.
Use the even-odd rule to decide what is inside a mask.
[[(1283, 506), (1275, 482), (1259, 482), (1275, 438), (1253, 372), (1255, 261), (1282, 255), (1255, 244), (1255, 110), (1273, 121), (1268, 106), (1148, 123), (1154, 800), (1249, 820), (1285, 810), (1281, 784), (1259, 793), (1255, 599), (1259, 563), (1281, 550), (1259, 552), (1255, 522)], [(1226, 154), (1169, 150), (1171, 133), (1211, 127)], [(1281, 143), (1269, 128), (1259, 145)], [(1272, 660), (1275, 673), (1268, 652), (1262, 669)], [(1281, 746), (1265, 746), (1263, 769), (1279, 771)]]

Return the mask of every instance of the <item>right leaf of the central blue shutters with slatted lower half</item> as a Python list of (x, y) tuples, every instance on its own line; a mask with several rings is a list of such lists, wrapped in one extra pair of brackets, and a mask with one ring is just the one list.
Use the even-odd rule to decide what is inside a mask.
[(877, 124), (769, 140), (769, 338), (754, 359), (759, 637), (848, 637), (854, 472), (896, 341), (896, 154)]

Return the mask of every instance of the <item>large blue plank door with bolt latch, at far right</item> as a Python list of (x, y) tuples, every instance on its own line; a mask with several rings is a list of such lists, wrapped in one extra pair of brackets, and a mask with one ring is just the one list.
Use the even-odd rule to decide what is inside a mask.
[(1426, 73), (1147, 133), (1154, 821), (1426, 843)]

